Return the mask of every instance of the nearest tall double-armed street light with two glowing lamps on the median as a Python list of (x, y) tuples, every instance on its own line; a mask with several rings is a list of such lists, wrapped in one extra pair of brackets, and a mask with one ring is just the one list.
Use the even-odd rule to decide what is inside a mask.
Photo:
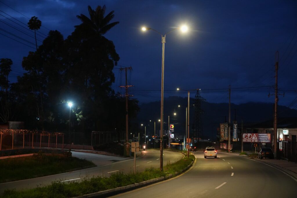
[[(187, 32), (188, 31), (188, 27), (187, 26), (181, 26), (179, 28), (174, 28), (173, 30), (171, 30), (170, 32), (173, 32), (175, 30), (181, 30), (181, 32)], [(157, 32), (158, 34), (161, 35), (162, 37), (162, 74), (161, 74), (161, 129), (160, 129), (160, 171), (163, 171), (163, 104), (164, 104), (164, 50), (165, 50), (165, 42), (166, 42), (166, 35), (169, 34), (170, 32), (164, 34), (161, 34), (160, 32), (158, 32), (155, 29), (152, 28), (148, 28), (148, 27), (142, 27), (141, 28), (142, 31), (147, 31), (147, 30), (153, 30), (154, 32)]]

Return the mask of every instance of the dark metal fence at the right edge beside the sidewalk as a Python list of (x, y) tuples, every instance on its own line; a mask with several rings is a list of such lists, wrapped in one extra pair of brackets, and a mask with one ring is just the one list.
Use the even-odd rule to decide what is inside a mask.
[(288, 161), (297, 163), (297, 142), (279, 142), (280, 157)]

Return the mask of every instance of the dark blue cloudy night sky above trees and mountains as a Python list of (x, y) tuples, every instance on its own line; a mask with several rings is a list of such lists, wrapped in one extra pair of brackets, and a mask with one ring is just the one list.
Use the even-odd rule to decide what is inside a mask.
[[(184, 23), (189, 26), (187, 34), (176, 31), (166, 39), (165, 90), (201, 88), (201, 95), (208, 102), (228, 102), (228, 91), (204, 89), (228, 88), (229, 84), (232, 88), (274, 85), (274, 54), (277, 50), (280, 58), (279, 88), (297, 90), (296, 1), (0, 1), (29, 18), (37, 16), (42, 21), (40, 32), (43, 34), (47, 34), (48, 29), (58, 30), (64, 38), (71, 34), (75, 25), (80, 24), (76, 15), (88, 15), (88, 5), (93, 9), (97, 5), (106, 5), (107, 13), (114, 10), (113, 21), (120, 23), (105, 37), (114, 42), (121, 58), (119, 65), (132, 66), (130, 82), (135, 87), (131, 93), (141, 103), (160, 100), (159, 91), (137, 90), (160, 89), (162, 52), (161, 37), (152, 31), (141, 32), (143, 25), (162, 33)], [(29, 19), (1, 2), (1, 21), (27, 32), (5, 13), (25, 24)], [(1, 34), (9, 35), (3, 32), (4, 29), (34, 43), (33, 38), (1, 21)], [(10, 75), (13, 82), (23, 72), (23, 56), (33, 48), (1, 34), (0, 58), (13, 60)], [(43, 40), (40, 36), (38, 38)], [(120, 75), (118, 70), (114, 73), (113, 88), (120, 91), (118, 86), (124, 83), (124, 75)], [(231, 102), (273, 103), (273, 96), (268, 98), (269, 92), (273, 94), (274, 90), (232, 90)], [(187, 96), (184, 92), (165, 91), (165, 97), (170, 95)], [(195, 92), (191, 95), (194, 97)], [(296, 96), (296, 92), (286, 92), (279, 103), (288, 106)]]

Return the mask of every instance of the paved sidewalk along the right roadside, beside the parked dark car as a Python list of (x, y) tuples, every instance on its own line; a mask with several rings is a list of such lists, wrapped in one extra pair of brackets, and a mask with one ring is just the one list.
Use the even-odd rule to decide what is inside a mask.
[[(230, 153), (230, 154), (239, 155), (239, 153)], [(240, 155), (240, 156), (251, 158), (251, 157), (248, 157), (247, 155)], [(270, 166), (273, 166), (274, 168), (280, 169), (286, 172), (287, 174), (291, 175), (292, 177), (294, 177), (295, 180), (297, 181), (297, 163), (295, 162), (290, 162), (287, 160), (268, 159), (268, 158), (259, 159), (257, 157), (252, 157), (252, 159), (255, 161), (259, 161), (259, 162), (268, 164)]]

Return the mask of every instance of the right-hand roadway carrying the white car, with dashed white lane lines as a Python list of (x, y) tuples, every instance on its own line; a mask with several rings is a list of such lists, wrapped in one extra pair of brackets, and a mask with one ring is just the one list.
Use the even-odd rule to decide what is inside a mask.
[(185, 174), (114, 197), (297, 197), (297, 180), (271, 166), (228, 153), (195, 156)]

